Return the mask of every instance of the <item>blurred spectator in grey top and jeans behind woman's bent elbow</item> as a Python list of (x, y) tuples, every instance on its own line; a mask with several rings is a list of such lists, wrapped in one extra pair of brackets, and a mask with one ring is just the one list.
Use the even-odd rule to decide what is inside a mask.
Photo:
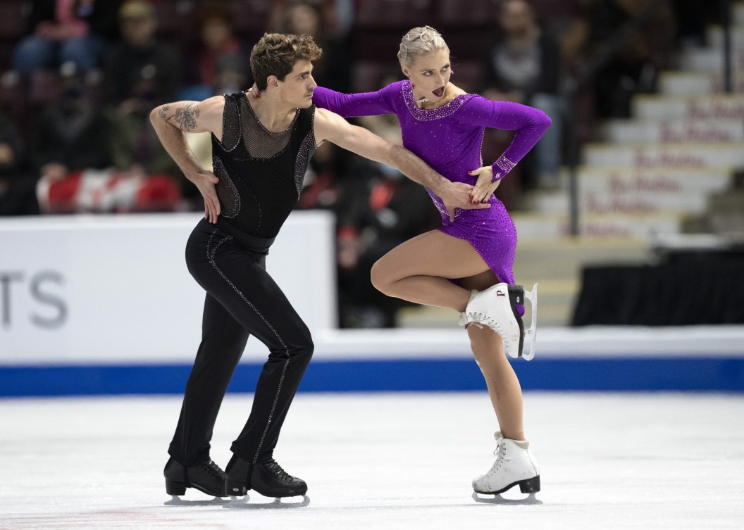
[[(556, 39), (538, 25), (527, 0), (504, 0), (498, 10), (498, 32), (484, 57), (483, 95), (536, 107), (553, 125), (527, 155), (527, 185), (554, 189), (562, 161), (562, 114), (559, 96), (561, 56)], [(531, 163), (531, 164), (530, 164)], [(536, 178), (530, 178), (530, 176)], [(536, 180), (535, 182), (530, 182)]]

